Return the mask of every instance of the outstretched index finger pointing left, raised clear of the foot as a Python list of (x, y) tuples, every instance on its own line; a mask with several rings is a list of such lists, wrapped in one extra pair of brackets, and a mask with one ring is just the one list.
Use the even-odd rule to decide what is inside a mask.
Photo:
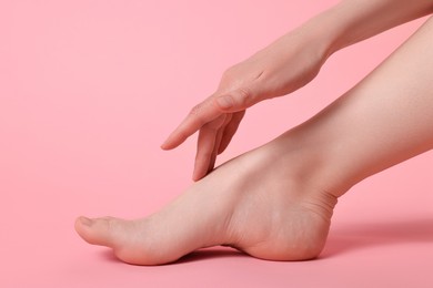
[(215, 120), (223, 112), (219, 109), (213, 96), (197, 104), (181, 124), (169, 135), (161, 145), (163, 150), (172, 150), (182, 144), (189, 136), (199, 131), (204, 124)]

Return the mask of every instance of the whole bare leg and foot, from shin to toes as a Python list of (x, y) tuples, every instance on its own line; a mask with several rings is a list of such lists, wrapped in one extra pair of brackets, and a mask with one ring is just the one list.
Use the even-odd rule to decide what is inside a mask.
[(269, 144), (216, 168), (147, 218), (79, 218), (89, 243), (155, 265), (214, 245), (309, 259), (336, 198), (363, 178), (433, 148), (433, 20), (354, 89)]

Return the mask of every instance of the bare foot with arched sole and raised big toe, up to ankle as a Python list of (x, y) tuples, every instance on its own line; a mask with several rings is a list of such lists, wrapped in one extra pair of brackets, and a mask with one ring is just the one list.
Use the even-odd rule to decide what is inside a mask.
[(271, 260), (304, 260), (322, 250), (336, 204), (320, 181), (320, 157), (289, 134), (243, 154), (142, 219), (77, 219), (88, 243), (137, 265), (171, 263), (226, 245)]

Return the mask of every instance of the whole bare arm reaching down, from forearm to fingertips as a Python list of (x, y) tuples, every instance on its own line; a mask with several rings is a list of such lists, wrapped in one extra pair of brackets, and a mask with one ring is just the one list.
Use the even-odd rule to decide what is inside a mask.
[(341, 1), (228, 69), (218, 90), (191, 110), (161, 147), (174, 148), (200, 131), (192, 175), (198, 181), (213, 169), (248, 107), (302, 88), (336, 51), (432, 12), (432, 0)]

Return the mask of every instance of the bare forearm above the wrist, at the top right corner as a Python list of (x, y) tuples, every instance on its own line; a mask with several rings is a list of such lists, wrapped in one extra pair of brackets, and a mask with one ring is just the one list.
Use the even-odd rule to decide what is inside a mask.
[(326, 56), (393, 27), (433, 12), (433, 0), (343, 0), (305, 23)]

